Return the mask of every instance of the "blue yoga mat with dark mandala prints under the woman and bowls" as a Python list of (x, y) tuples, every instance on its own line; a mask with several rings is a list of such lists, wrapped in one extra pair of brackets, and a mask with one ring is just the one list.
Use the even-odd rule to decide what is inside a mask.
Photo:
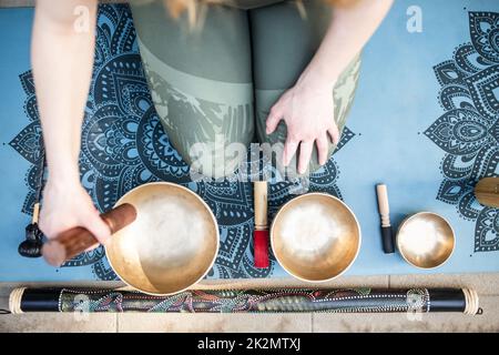
[[(181, 183), (208, 203), (221, 225), (210, 278), (286, 276), (275, 261), (268, 270), (253, 267), (249, 183), (190, 181), (187, 165), (159, 124), (128, 7), (101, 6), (99, 13), (80, 158), (82, 183), (99, 209), (108, 210), (142, 183)], [(102, 247), (61, 268), (17, 252), (30, 222), (41, 156), (30, 72), (32, 19), (32, 9), (0, 10), (0, 281), (115, 280)], [(104, 83), (104, 70), (112, 81)], [(396, 1), (364, 50), (340, 149), (310, 179), (310, 191), (342, 197), (360, 222), (361, 250), (347, 275), (499, 271), (498, 210), (472, 196), (479, 178), (499, 175), (498, 119), (499, 2), (421, 0), (413, 7)], [(457, 244), (447, 264), (421, 271), (398, 254), (383, 253), (378, 182), (389, 187), (395, 225), (418, 211), (448, 219)], [(272, 185), (272, 213), (295, 187)]]

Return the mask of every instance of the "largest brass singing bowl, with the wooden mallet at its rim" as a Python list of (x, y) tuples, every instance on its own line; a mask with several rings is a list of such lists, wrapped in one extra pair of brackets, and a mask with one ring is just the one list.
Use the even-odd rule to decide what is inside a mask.
[(181, 185), (135, 187), (116, 205), (131, 203), (136, 220), (113, 235), (105, 252), (130, 286), (153, 295), (184, 291), (202, 280), (218, 252), (218, 226), (210, 207)]

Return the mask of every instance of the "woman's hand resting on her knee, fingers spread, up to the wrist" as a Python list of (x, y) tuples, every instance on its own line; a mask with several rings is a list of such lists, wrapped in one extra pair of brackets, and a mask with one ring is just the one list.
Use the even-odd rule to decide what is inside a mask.
[(271, 134), (281, 120), (286, 122), (287, 136), (284, 144), (283, 164), (287, 166), (298, 153), (298, 172), (305, 173), (314, 144), (317, 145), (318, 162), (324, 165), (328, 158), (329, 140), (339, 141), (334, 118), (333, 88), (335, 82), (322, 82), (302, 75), (272, 106), (266, 121), (266, 133)]

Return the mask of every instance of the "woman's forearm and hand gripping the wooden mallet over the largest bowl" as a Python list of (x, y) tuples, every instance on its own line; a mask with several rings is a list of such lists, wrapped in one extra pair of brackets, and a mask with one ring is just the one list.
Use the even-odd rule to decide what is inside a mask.
[[(75, 9), (84, 8), (77, 17)], [(48, 237), (74, 226), (99, 242), (110, 235), (79, 180), (81, 126), (89, 97), (95, 48), (96, 0), (38, 0), (31, 37), (37, 102), (43, 131), (49, 181), (43, 192), (40, 229)], [(88, 22), (79, 29), (77, 21)], [(57, 73), (57, 75), (54, 75)]]

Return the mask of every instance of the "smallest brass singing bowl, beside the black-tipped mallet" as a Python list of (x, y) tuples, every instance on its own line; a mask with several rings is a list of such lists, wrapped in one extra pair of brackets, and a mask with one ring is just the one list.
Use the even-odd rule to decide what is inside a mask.
[(449, 222), (431, 212), (419, 212), (403, 221), (397, 248), (411, 265), (432, 268), (442, 265), (454, 252), (456, 237)]

